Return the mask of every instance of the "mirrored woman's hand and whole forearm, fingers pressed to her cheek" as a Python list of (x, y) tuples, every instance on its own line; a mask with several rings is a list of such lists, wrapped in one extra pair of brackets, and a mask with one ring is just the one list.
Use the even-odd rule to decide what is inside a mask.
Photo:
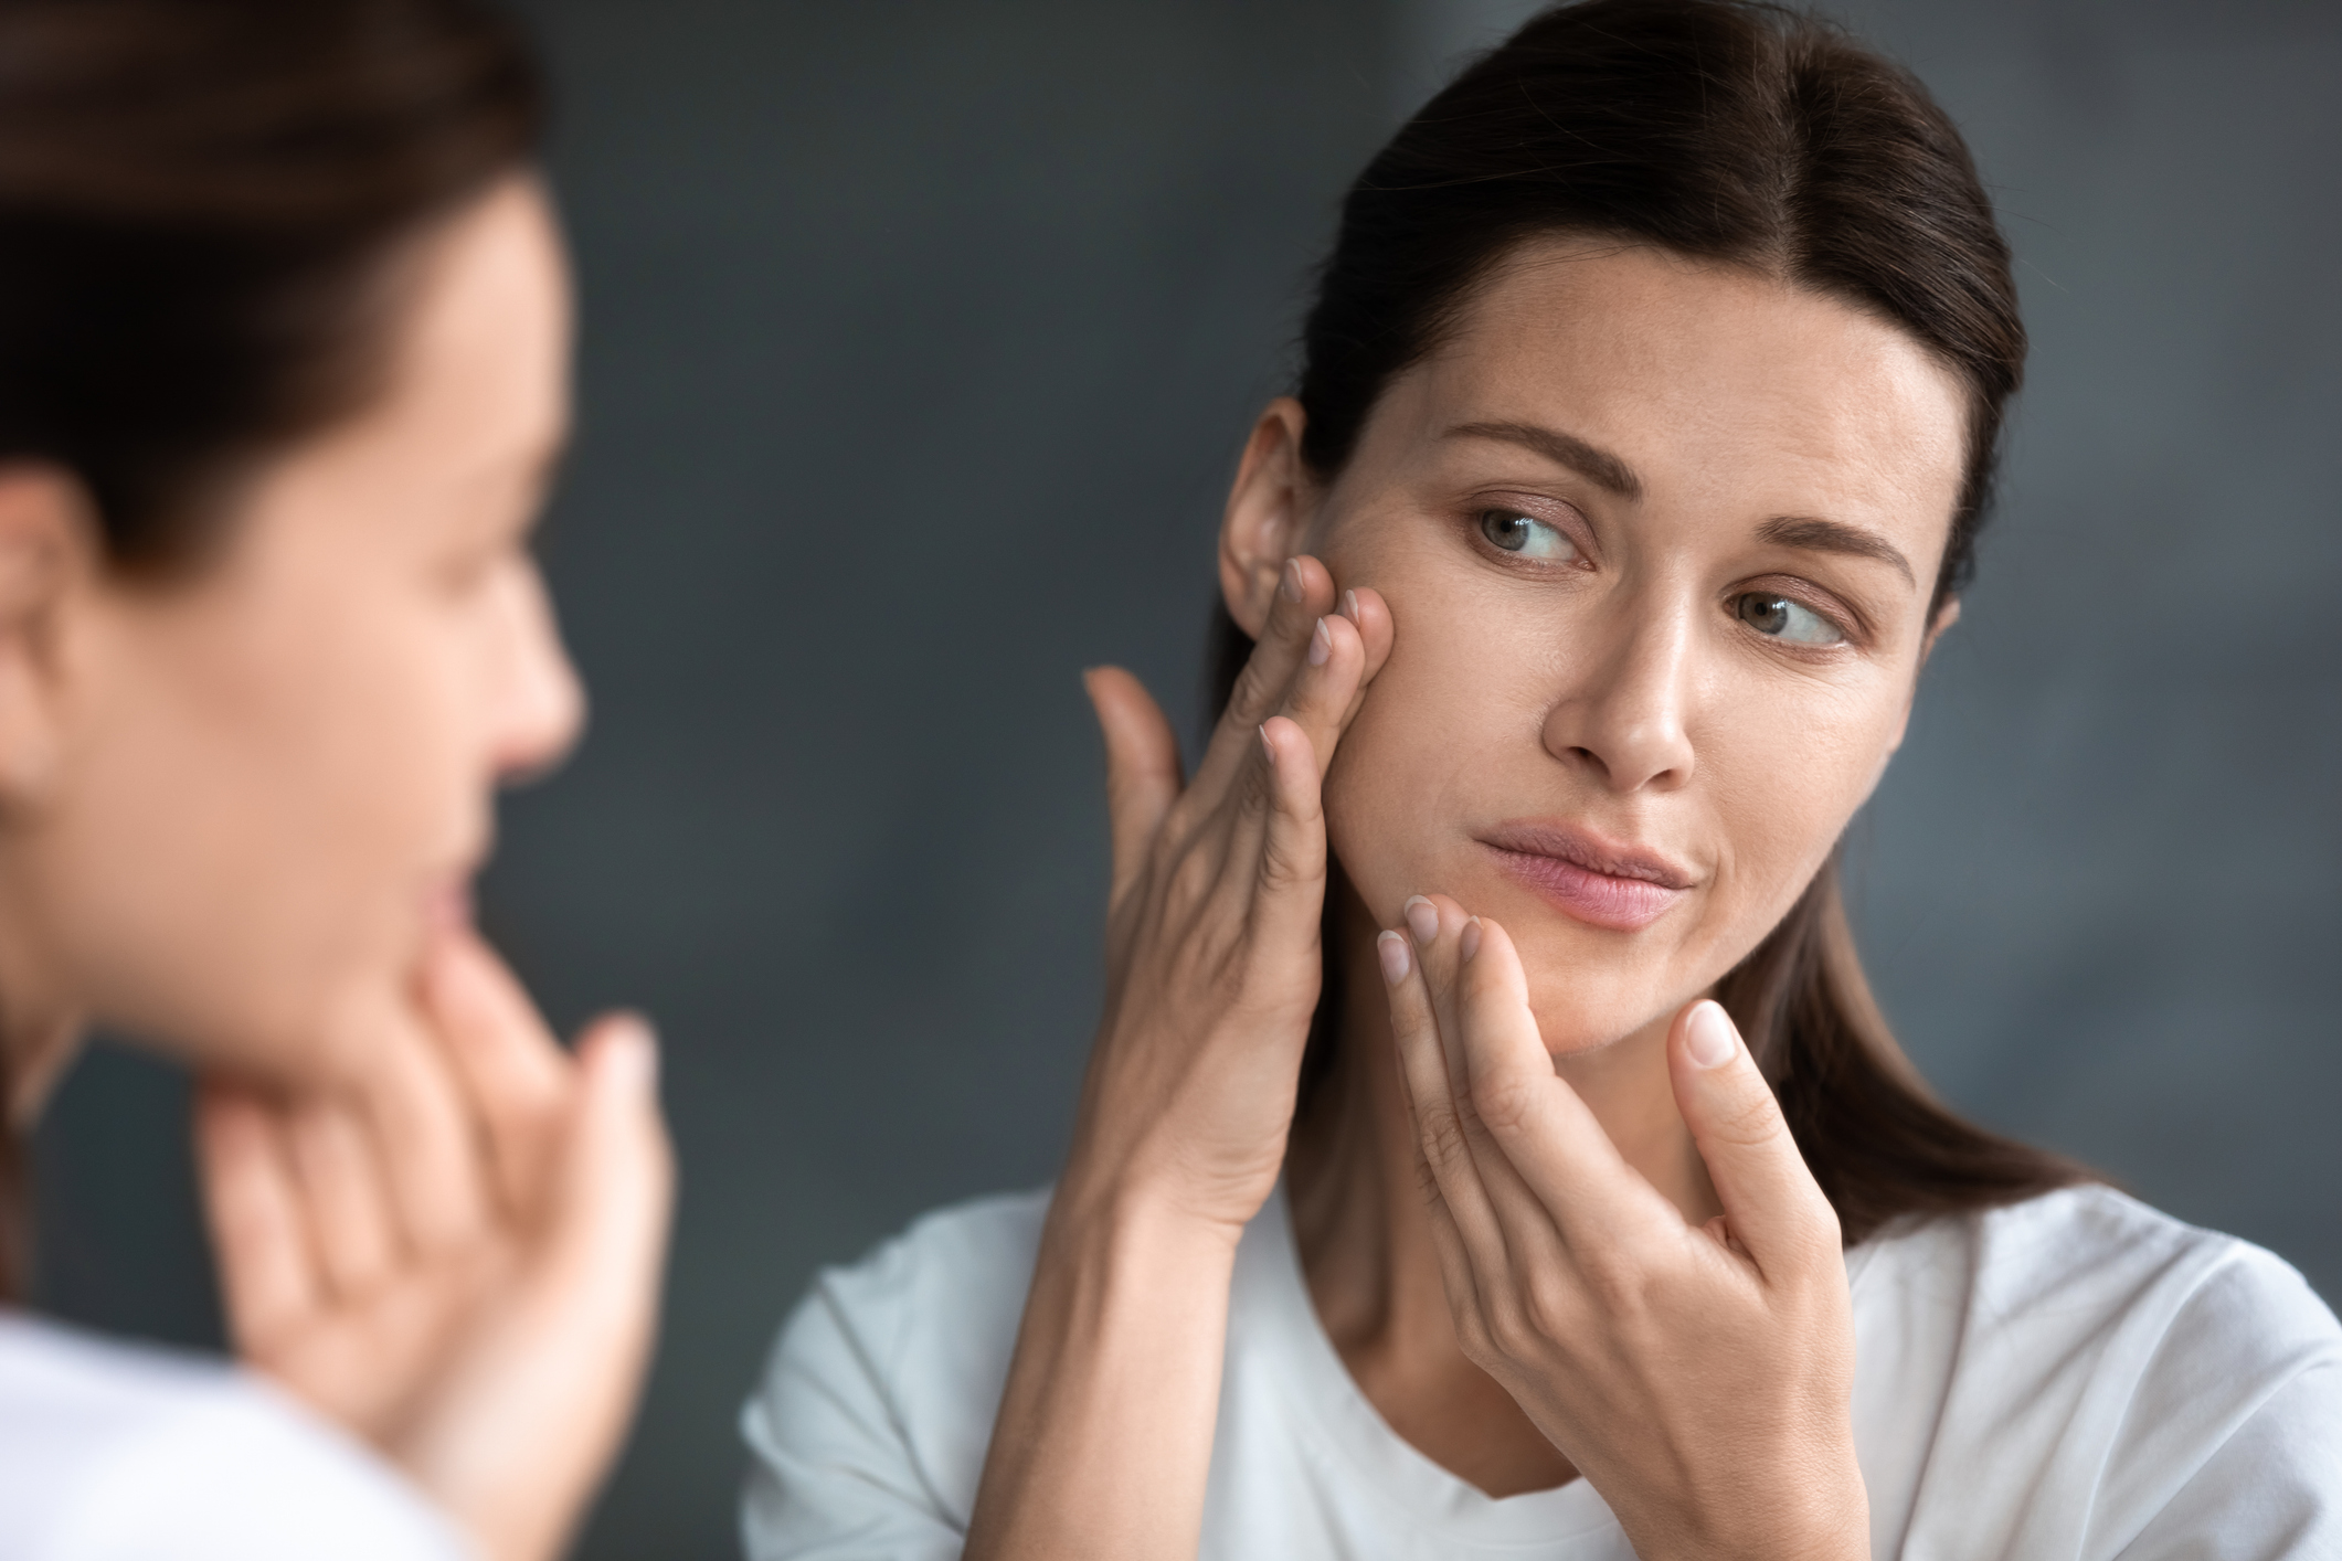
[(1319, 784), (1391, 613), (1283, 583), (1192, 786), (1155, 700), (1089, 674), (1115, 882), (1105, 1020), (1049, 1201), (967, 1561), (1194, 1556), (1244, 1226), (1286, 1156), (1319, 999)]

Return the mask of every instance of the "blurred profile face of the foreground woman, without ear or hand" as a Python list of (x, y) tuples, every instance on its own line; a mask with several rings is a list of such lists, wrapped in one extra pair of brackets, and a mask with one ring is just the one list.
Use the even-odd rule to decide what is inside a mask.
[(527, 552), (569, 417), (543, 194), (501, 185), (417, 262), (386, 391), (260, 470), (190, 580), (94, 587), (9, 843), (70, 1002), (260, 1079), (347, 1067), (408, 1002), (499, 777), (581, 723)]

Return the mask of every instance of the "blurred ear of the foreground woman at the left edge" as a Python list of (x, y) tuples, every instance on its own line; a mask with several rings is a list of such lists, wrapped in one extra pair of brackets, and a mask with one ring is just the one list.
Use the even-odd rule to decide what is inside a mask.
[(47, 800), (66, 751), (66, 618), (96, 564), (82, 484), (0, 466), (0, 814)]

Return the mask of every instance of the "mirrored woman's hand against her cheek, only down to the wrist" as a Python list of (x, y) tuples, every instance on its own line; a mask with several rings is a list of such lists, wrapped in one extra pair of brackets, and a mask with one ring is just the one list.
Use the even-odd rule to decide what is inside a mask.
[(1321, 981), (1335, 744), (1391, 651), (1372, 590), (1286, 562), (1194, 782), (1138, 679), (1087, 676), (1115, 875), (1105, 1018), (1059, 1212), (1145, 1210), (1230, 1240), (1276, 1187)]

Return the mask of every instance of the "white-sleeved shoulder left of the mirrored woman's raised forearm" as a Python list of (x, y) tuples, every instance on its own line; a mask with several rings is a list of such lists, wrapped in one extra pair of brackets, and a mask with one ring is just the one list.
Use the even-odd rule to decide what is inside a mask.
[(1047, 1215), (1047, 1191), (977, 1198), (815, 1275), (740, 1416), (752, 1554), (965, 1526)]

